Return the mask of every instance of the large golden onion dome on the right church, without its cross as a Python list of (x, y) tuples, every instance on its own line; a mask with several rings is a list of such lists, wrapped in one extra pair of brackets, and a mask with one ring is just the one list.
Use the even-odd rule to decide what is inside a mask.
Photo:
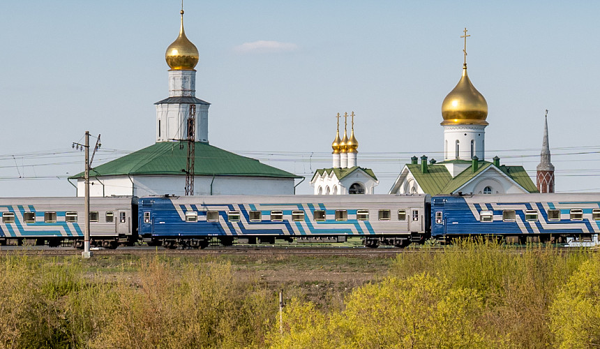
[(488, 125), (488, 103), (475, 89), (467, 75), (467, 64), (463, 66), (463, 77), (442, 103), (442, 125)]

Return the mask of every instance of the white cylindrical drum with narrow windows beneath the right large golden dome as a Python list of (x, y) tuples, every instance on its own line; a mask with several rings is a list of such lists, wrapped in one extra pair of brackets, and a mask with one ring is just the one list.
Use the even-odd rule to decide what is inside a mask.
[(485, 160), (486, 125), (444, 125), (444, 160)]

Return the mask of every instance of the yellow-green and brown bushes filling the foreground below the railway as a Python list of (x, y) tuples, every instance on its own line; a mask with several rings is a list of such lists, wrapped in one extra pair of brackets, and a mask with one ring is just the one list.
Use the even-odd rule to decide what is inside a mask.
[[(285, 264), (273, 260), (262, 263)], [(600, 255), (590, 250), (517, 251), (462, 242), (442, 253), (400, 253), (387, 263), (386, 277), (343, 292), (336, 304), (302, 290), (287, 292), (294, 297), (284, 308), (283, 332), (276, 302), (282, 285), (264, 283), (260, 272), (239, 273), (239, 261), (156, 255), (112, 262), (107, 267), (79, 258), (0, 258), (0, 346), (600, 345)]]

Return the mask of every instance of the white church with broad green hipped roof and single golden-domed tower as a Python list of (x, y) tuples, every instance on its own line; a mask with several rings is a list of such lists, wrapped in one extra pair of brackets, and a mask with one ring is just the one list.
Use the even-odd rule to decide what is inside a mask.
[[(91, 196), (184, 195), (190, 160), (193, 195), (294, 194), (294, 181), (302, 177), (209, 144), (210, 103), (195, 96), (199, 58), (183, 30), (182, 9), (179, 36), (165, 54), (169, 96), (155, 103), (156, 143), (91, 169)], [(189, 135), (193, 135), (193, 158), (188, 156)], [(84, 174), (69, 179), (77, 180), (77, 196), (84, 196)]]

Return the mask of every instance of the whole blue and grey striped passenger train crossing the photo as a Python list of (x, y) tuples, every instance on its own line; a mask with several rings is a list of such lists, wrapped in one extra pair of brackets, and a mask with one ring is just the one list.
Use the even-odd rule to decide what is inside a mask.
[[(0, 198), (0, 245), (83, 247), (83, 198)], [(597, 242), (599, 193), (216, 195), (91, 198), (91, 246), (346, 242), (406, 247), (489, 237)]]

